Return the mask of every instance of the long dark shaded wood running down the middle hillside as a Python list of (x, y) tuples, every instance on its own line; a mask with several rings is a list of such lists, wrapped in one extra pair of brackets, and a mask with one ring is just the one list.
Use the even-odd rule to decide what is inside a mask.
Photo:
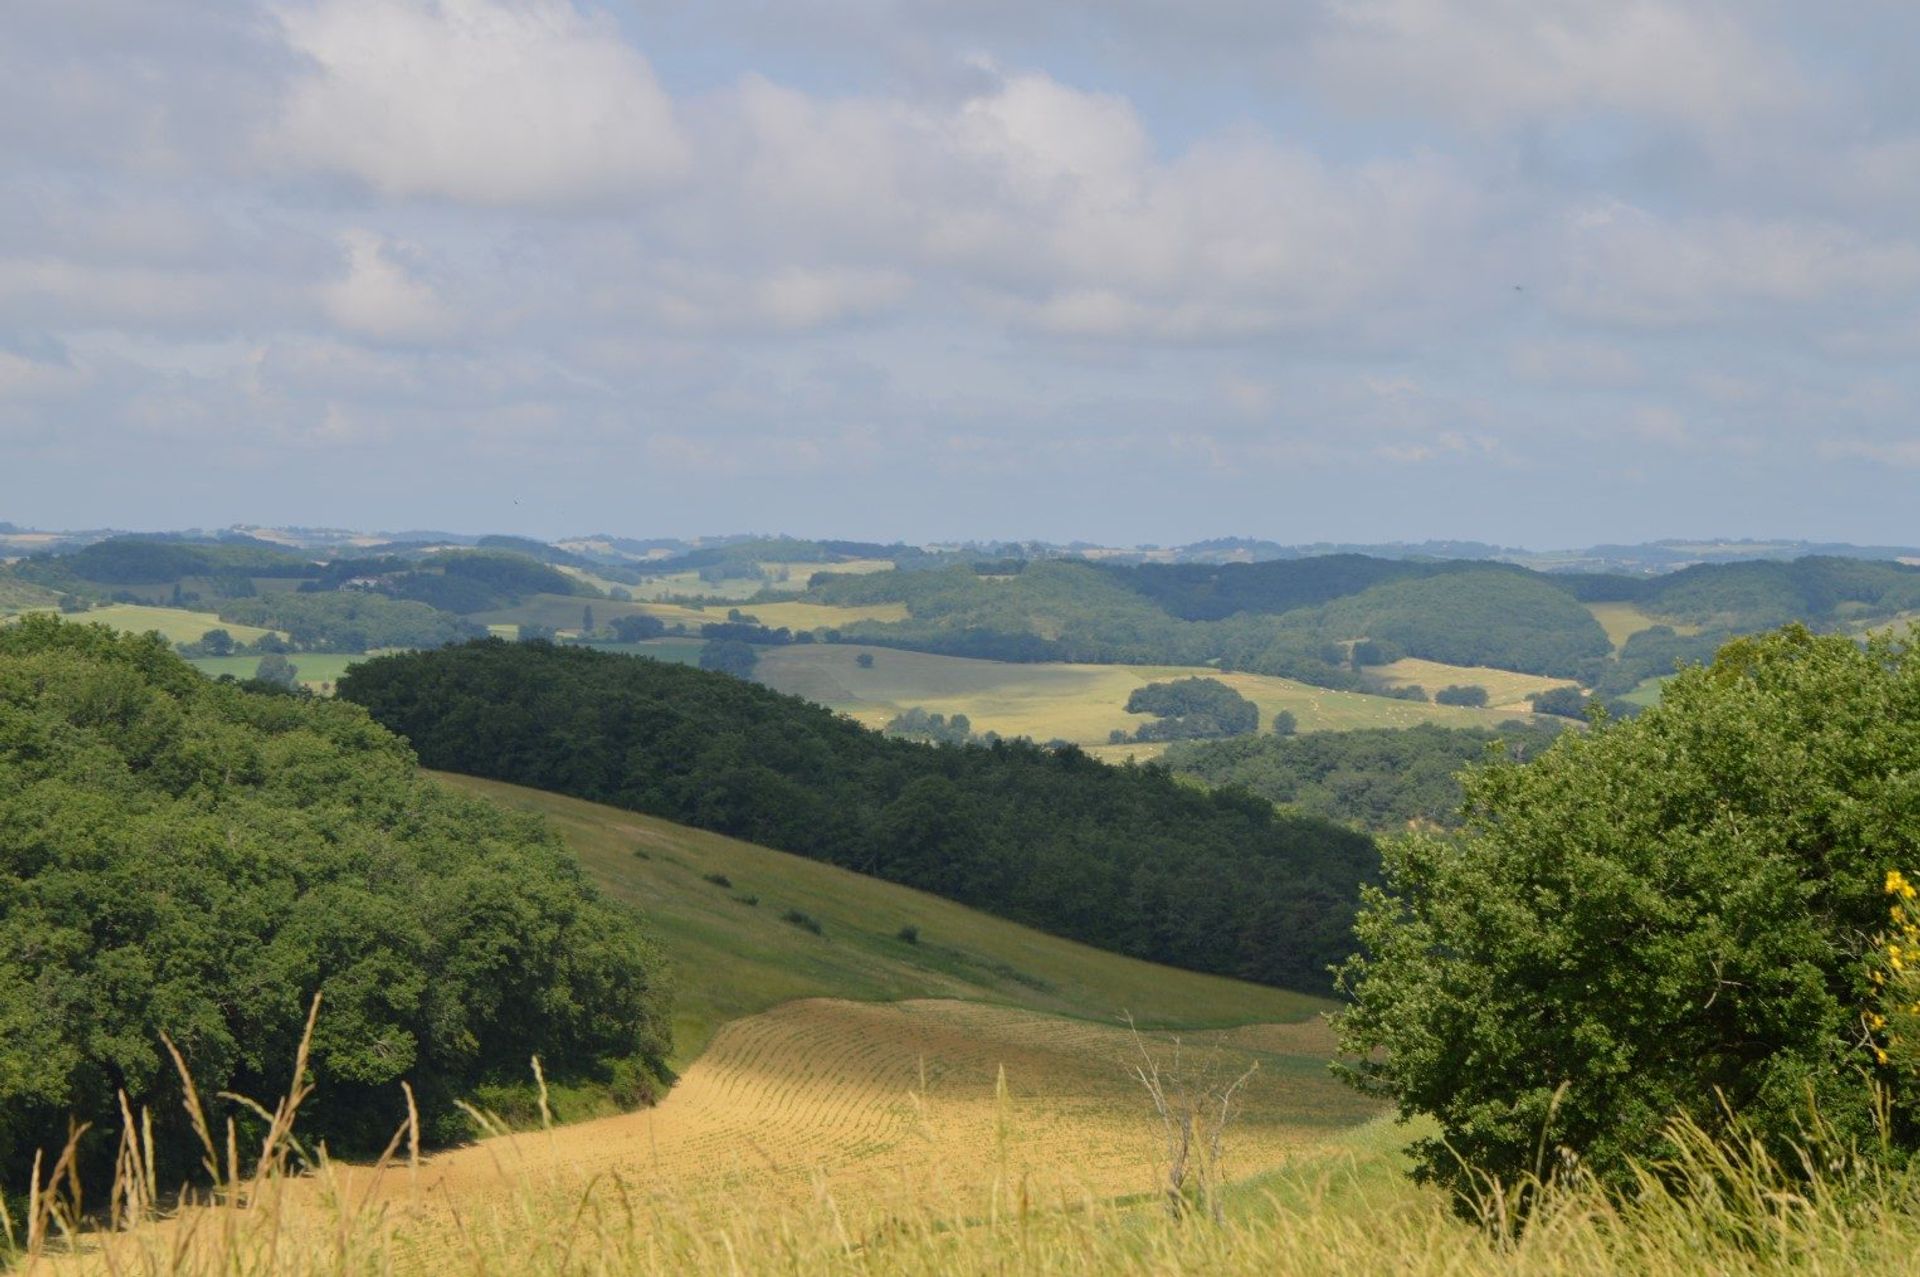
[(478, 641), (340, 695), (426, 766), (666, 816), (1102, 949), (1321, 989), (1375, 849), (1240, 791), (1025, 741), (931, 747), (639, 657)]

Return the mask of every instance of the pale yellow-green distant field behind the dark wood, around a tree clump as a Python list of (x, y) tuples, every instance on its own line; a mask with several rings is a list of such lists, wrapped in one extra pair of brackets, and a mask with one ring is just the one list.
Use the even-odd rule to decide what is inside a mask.
[[(874, 659), (870, 668), (858, 664), (862, 653)], [(1037, 741), (1066, 739), (1089, 747), (1106, 747), (1112, 732), (1140, 726), (1140, 716), (1125, 711), (1135, 687), (1194, 676), (1217, 678), (1254, 701), (1261, 726), (1273, 720), (1275, 711), (1284, 709), (1294, 714), (1302, 732), (1411, 728), (1419, 722), (1496, 726), (1515, 716), (1511, 711), (1394, 701), (1206, 666), (1016, 664), (854, 643), (762, 649), (755, 672), (755, 678), (776, 691), (818, 701), (874, 728), (920, 705), (931, 712), (966, 714), (975, 732), (1031, 735)], [(1116, 749), (1135, 757), (1148, 753), (1148, 747), (1139, 745)]]

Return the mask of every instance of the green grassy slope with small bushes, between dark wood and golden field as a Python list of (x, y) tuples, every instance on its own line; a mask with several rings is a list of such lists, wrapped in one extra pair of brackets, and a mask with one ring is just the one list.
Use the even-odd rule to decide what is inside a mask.
[[(647, 918), (674, 962), (674, 1066), (728, 1020), (804, 997), (956, 997), (1112, 1024), (1219, 1027), (1300, 1022), (1332, 1010), (1304, 993), (1179, 972), (1077, 945), (910, 887), (538, 789), (434, 774), (442, 783), (536, 810), (589, 878)], [(636, 855), (643, 853), (643, 855)], [(724, 874), (718, 887), (707, 874)], [(739, 897), (755, 895), (758, 904)], [(814, 935), (781, 922), (820, 920)], [(899, 939), (906, 924), (920, 943)]]

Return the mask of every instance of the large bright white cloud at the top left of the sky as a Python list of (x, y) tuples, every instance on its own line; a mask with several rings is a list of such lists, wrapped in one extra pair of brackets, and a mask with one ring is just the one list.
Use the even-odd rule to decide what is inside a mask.
[(267, 134), (290, 163), (490, 205), (632, 196), (685, 169), (647, 60), (568, 0), (315, 0), (280, 19), (313, 63)]

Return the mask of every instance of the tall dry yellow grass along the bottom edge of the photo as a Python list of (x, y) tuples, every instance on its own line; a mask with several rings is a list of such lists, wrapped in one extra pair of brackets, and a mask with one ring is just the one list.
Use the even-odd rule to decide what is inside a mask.
[[(1373, 1154), (1306, 1156), (1283, 1173), (1227, 1187), (1217, 1217), (1171, 1216), (1146, 1183), (1137, 1198), (1094, 1198), (1073, 1187), (1069, 1168), (1044, 1187), (1002, 1166), (977, 1191), (939, 1189), (902, 1171), (891, 1189), (841, 1196), (829, 1173), (806, 1179), (797, 1171), (810, 1191), (762, 1183), (699, 1194), (649, 1181), (637, 1168), (595, 1177), (564, 1168), (534, 1173), (516, 1158), (518, 1137), (474, 1112), (484, 1131), (499, 1133), (490, 1146), (499, 1187), (453, 1198), (419, 1189), (411, 1095), (407, 1121), (382, 1158), (336, 1164), (296, 1137), (309, 1095), (301, 1047), (288, 1095), (271, 1110), (250, 1106), (267, 1120), (267, 1137), (244, 1164), (232, 1125), (217, 1137), (192, 1079), (180, 1073), (209, 1187), (163, 1204), (152, 1118), (123, 1104), (121, 1156), (98, 1210), (86, 1208), (73, 1169), (83, 1131), (50, 1164), (35, 1162), (25, 1219), (0, 1221), (19, 1271), (1920, 1277), (1920, 1181), (1855, 1156), (1818, 1127), (1797, 1158), (1782, 1160), (1759, 1141), (1716, 1141), (1676, 1123), (1678, 1152), (1644, 1168), (1624, 1193), (1601, 1191), (1576, 1164), (1542, 1168), (1523, 1185), (1488, 1181), (1480, 1223), (1469, 1223), (1440, 1193), (1386, 1181)], [(1006, 1139), (1018, 1114), (1002, 1112)]]

